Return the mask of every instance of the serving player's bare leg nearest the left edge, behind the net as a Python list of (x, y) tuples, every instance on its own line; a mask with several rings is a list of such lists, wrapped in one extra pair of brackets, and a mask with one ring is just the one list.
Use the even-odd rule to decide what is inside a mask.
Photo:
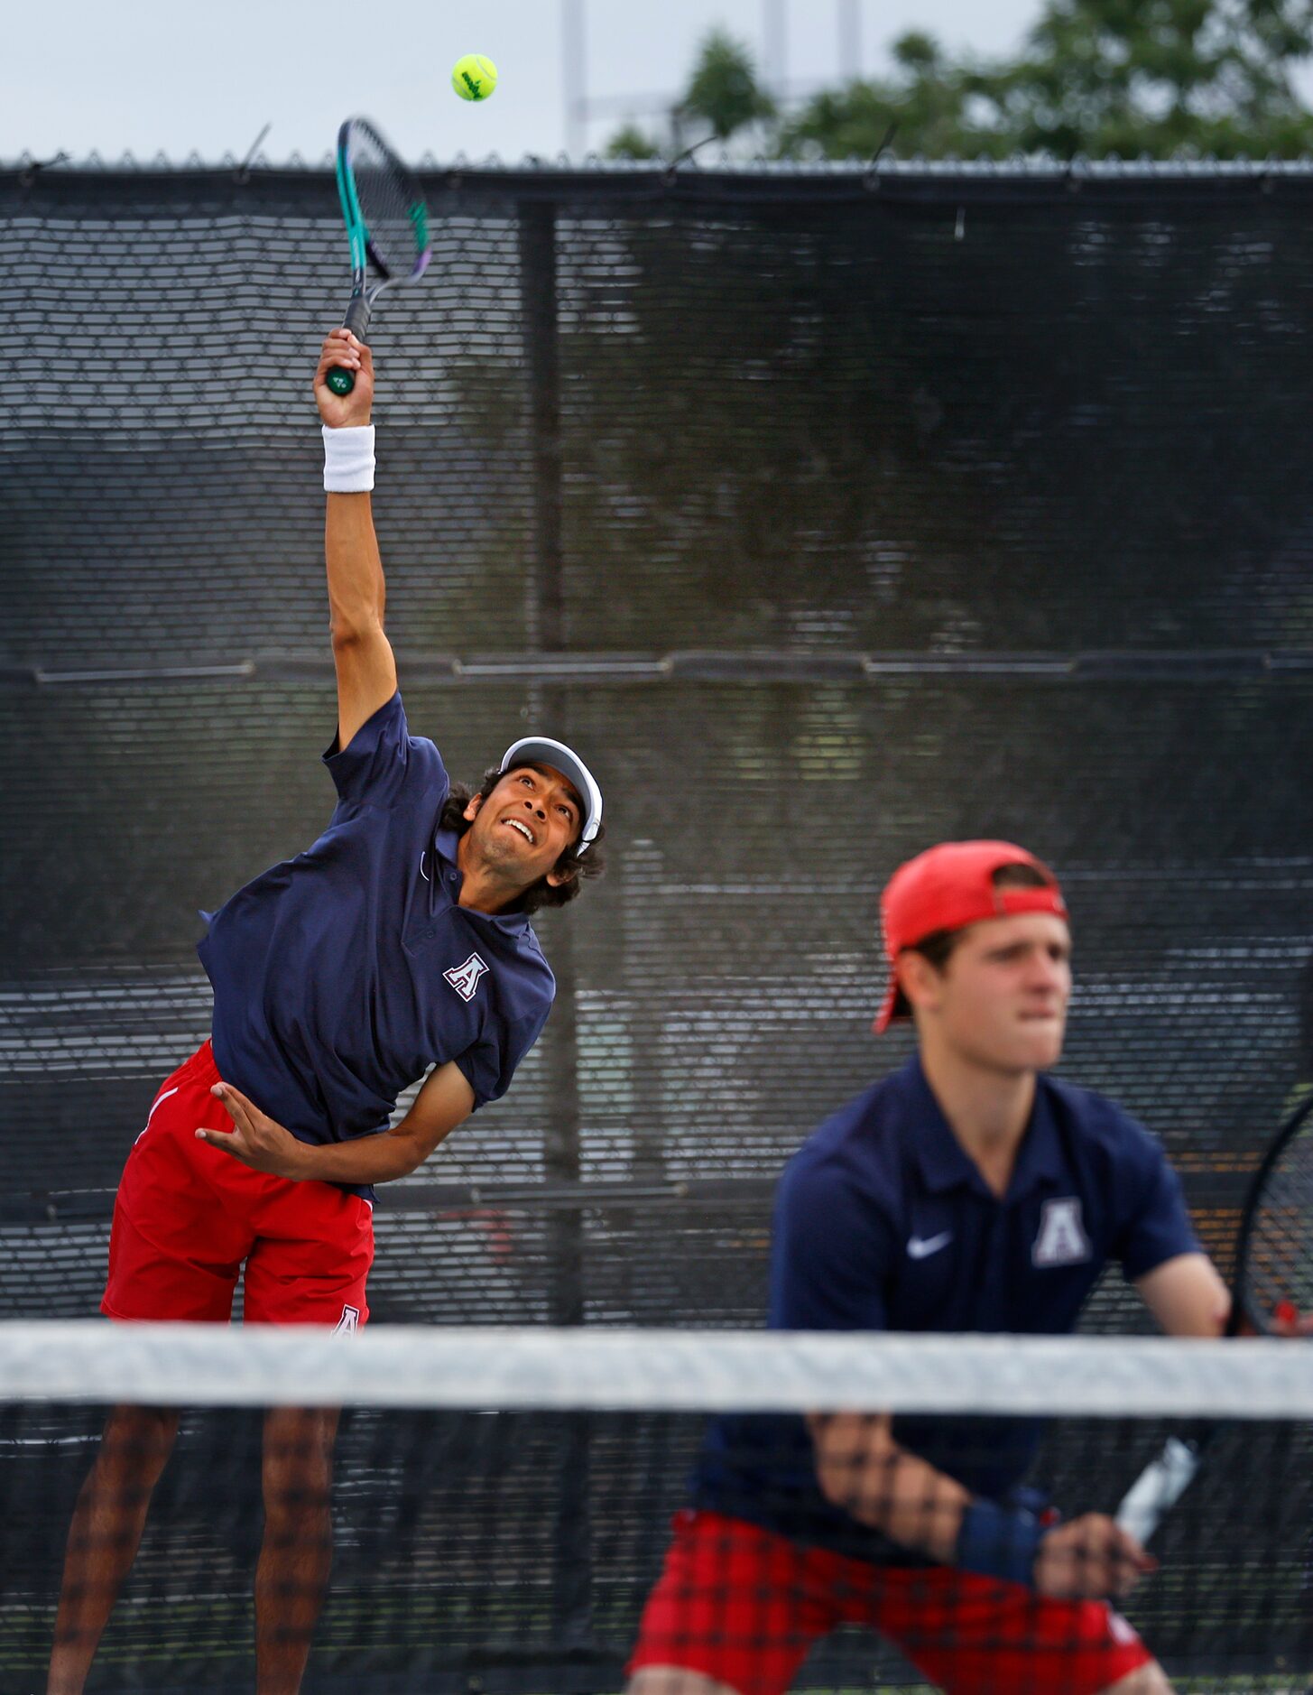
[(105, 1424), (68, 1532), (47, 1695), (81, 1695), (176, 1434), (163, 1407), (115, 1407)]

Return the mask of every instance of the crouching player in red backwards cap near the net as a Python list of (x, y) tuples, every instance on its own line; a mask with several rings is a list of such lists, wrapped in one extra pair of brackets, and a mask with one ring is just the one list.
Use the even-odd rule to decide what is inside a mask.
[[(769, 1324), (1062, 1334), (1122, 1266), (1164, 1331), (1218, 1336), (1227, 1288), (1161, 1146), (1044, 1075), (1071, 995), (1054, 875), (944, 842), (881, 900), (876, 1029), (917, 1054), (823, 1124), (778, 1190)], [(950, 1695), (1164, 1695), (1113, 1602), (1154, 1559), (1111, 1517), (1023, 1503), (1023, 1419), (722, 1417), (644, 1610), (629, 1695), (779, 1695), (864, 1624)]]

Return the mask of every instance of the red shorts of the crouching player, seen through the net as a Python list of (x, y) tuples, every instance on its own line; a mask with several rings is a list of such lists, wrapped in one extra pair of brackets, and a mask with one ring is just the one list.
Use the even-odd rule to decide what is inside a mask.
[(679, 1512), (629, 1671), (679, 1666), (739, 1695), (781, 1695), (840, 1624), (878, 1631), (949, 1695), (1094, 1695), (1152, 1659), (1105, 1602), (1049, 1600), (949, 1566), (876, 1566)]

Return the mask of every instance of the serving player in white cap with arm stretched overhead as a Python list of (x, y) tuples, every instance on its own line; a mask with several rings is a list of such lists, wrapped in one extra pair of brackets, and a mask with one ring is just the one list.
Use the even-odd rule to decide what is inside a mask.
[[(354, 376), (342, 398), (327, 383), (339, 366)], [(369, 349), (334, 331), (315, 398), (337, 807), (308, 853), (210, 920), (212, 1037), (159, 1088), (129, 1154), (102, 1302), (112, 1319), (225, 1324), (246, 1266), (247, 1322), (363, 1325), (371, 1185), (413, 1171), (505, 1093), (554, 993), (529, 915), (601, 870), (601, 793), (569, 747), (517, 741), (471, 793), (410, 734), (383, 631), (373, 392)], [(305, 1670), (329, 1573), (335, 1427), (327, 1410), (266, 1417), (259, 1695), (291, 1695)], [(83, 1688), (176, 1429), (171, 1410), (108, 1419), (69, 1532), (51, 1695)]]

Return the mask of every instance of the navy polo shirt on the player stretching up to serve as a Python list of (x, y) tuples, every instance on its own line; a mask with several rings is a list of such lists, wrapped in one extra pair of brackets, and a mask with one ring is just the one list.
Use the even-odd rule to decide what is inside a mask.
[(220, 907), (198, 948), (220, 1075), (305, 1142), (385, 1131), (449, 1059), (476, 1107), (496, 1100), (556, 992), (524, 914), (459, 905), (459, 837), (439, 831), (451, 780), (400, 693), (324, 763), (329, 827)]

